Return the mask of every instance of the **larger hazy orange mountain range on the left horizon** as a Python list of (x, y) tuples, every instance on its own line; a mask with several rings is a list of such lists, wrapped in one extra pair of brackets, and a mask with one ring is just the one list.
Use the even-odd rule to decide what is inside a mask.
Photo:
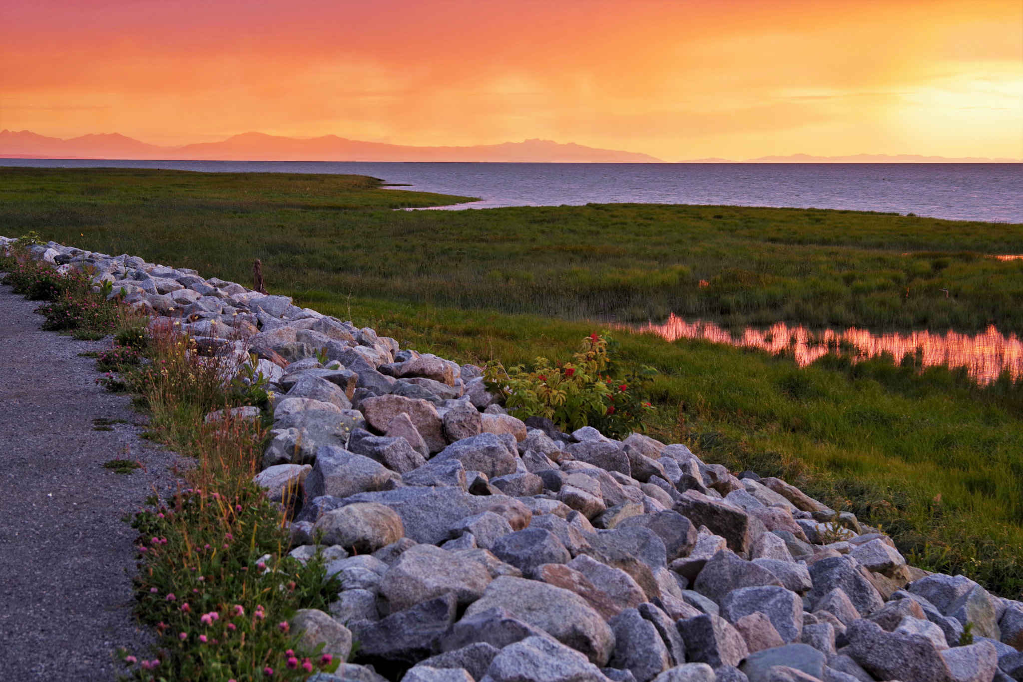
[(575, 142), (525, 140), (472, 147), (414, 147), (362, 142), (337, 135), (300, 140), (242, 133), (221, 142), (161, 147), (119, 133), (82, 135), (62, 140), (27, 130), (0, 131), (0, 157), (6, 158), (143, 158), (203, 161), (356, 161), (356, 162), (548, 162), (663, 164), (635, 151), (596, 149)]

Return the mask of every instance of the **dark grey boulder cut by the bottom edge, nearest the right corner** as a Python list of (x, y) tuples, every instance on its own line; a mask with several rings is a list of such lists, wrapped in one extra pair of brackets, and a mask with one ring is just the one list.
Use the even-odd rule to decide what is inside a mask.
[(877, 623), (854, 621), (846, 631), (849, 646), (843, 649), (869, 673), (883, 680), (951, 679), (948, 665), (926, 637), (885, 632)]

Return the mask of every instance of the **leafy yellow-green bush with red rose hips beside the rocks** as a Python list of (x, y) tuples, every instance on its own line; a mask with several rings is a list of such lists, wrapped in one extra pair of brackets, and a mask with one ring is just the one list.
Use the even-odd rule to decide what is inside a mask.
[(568, 431), (592, 425), (608, 436), (626, 436), (646, 430), (644, 419), (654, 408), (642, 388), (657, 372), (646, 366), (625, 371), (616, 358), (618, 349), (610, 336), (594, 333), (582, 340), (571, 362), (537, 358), (528, 371), (523, 365), (505, 369), (491, 361), (484, 381), (520, 418), (546, 417)]

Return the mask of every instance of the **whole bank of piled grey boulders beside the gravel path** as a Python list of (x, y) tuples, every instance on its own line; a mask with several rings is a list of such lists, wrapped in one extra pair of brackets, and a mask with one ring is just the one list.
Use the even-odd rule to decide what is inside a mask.
[(784, 481), (522, 421), (479, 367), (286, 297), (53, 242), (32, 254), (93, 268), (151, 324), (256, 355), (275, 393), (256, 481), (295, 512), (292, 555), (319, 541), (343, 585), (295, 625), (342, 655), (359, 642), (319, 682), (1023, 680), (1023, 603), (907, 565)]

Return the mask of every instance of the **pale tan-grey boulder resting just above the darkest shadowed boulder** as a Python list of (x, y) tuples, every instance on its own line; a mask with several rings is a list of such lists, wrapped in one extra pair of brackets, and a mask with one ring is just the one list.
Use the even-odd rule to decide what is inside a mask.
[(483, 595), (490, 581), (490, 574), (476, 561), (433, 545), (415, 545), (384, 574), (380, 594), (391, 612), (447, 593), (466, 605)]

